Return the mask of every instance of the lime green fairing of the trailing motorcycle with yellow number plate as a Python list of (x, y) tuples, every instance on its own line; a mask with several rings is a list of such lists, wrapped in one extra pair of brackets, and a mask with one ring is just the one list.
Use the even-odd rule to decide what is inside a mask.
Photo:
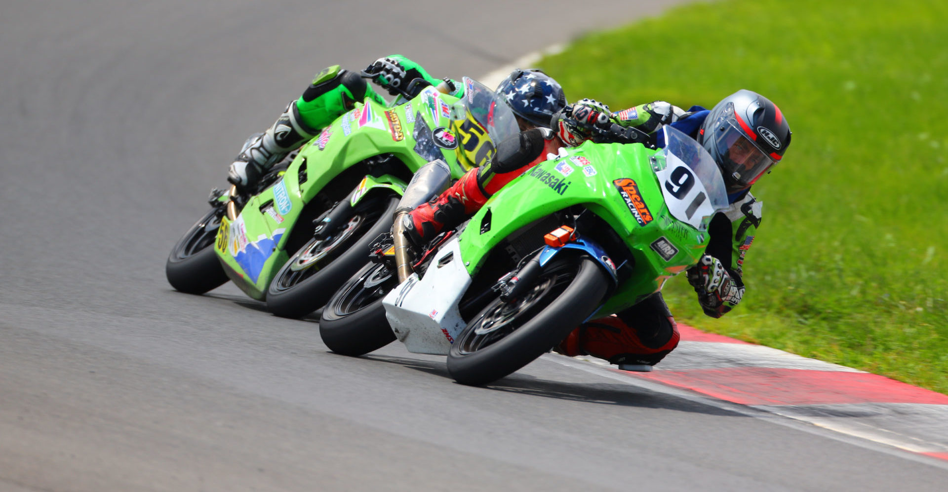
[[(333, 179), (339, 173), (368, 157), (383, 154), (395, 155), (405, 164), (410, 173), (416, 172), (427, 164), (428, 159), (413, 150), (415, 146), (413, 130), (415, 124), (418, 123), (416, 118), (423, 118), (428, 128), (432, 129), (438, 126), (449, 126), (449, 119), (445, 116), (439, 116), (437, 121), (432, 120), (432, 112), (426, 102), (429, 96), (444, 100), (448, 106), (458, 101), (457, 98), (431, 89), (411, 100), (410, 106), (405, 104), (389, 109), (369, 98), (363, 103), (356, 103), (356, 109), (336, 118), (323, 130), (322, 134), (314, 137), (301, 148), (300, 154), (293, 159), (283, 173), (282, 179), (248, 201), (236, 221), (243, 223), (242, 230), (231, 233), (229, 221), (225, 217), (218, 230), (215, 250), (222, 264), (225, 265), (225, 271), (230, 280), (249, 297), (263, 300), (269, 283), (289, 259), (289, 254), (284, 248), (290, 236), (289, 232), (296, 225), (301, 211), (319, 191), (327, 186), (334, 186)], [(369, 108), (368, 114), (363, 113), (366, 108)], [(410, 118), (406, 115), (406, 110), (409, 108), (412, 113)], [(363, 116), (366, 118), (362, 118)], [(397, 125), (400, 126), (400, 133), (392, 130), (393, 121), (397, 121)], [(345, 129), (349, 130), (348, 135)], [(401, 138), (396, 140), (396, 137)], [(321, 150), (320, 144), (323, 145)], [(452, 177), (461, 177), (465, 170), (458, 164), (455, 152), (447, 149), (441, 149), (441, 151), (451, 169)], [(302, 172), (305, 176), (302, 184), (300, 182), (301, 168), (305, 168)], [(388, 183), (387, 188), (399, 193), (404, 191), (406, 186), (404, 181), (397, 178), (386, 180), (383, 176), (374, 178), (374, 181), (375, 184)], [(355, 188), (355, 185), (356, 183), (352, 183), (347, 186)], [(288, 197), (289, 210), (286, 213), (277, 211), (275, 205), (278, 200), (274, 192), (281, 190), (282, 187), (285, 187)], [(282, 221), (278, 222), (271, 213), (279, 216)], [(275, 247), (272, 250), (261, 251), (261, 255), (266, 258), (254, 281), (251, 272), (246, 271), (232, 254), (234, 249), (239, 249), (239, 247), (233, 247), (234, 241), (239, 240), (236, 243), (237, 246), (260, 242), (267, 244), (267, 241), (272, 243), (272, 238), (278, 233), (282, 235)]]

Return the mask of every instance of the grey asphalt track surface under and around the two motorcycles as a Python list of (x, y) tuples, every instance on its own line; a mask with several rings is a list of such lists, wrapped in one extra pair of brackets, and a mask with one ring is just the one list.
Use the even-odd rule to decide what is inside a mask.
[(0, 8), (0, 491), (944, 489), (934, 460), (573, 359), (469, 388), (230, 285), (174, 292), (174, 240), (321, 67), (477, 76), (667, 5), (321, 4)]

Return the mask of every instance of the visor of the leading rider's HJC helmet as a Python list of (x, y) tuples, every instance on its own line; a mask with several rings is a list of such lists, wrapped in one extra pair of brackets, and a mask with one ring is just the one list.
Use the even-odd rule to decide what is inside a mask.
[(725, 175), (741, 185), (753, 185), (776, 161), (740, 129), (733, 110), (725, 111), (721, 119), (715, 127), (715, 142)]

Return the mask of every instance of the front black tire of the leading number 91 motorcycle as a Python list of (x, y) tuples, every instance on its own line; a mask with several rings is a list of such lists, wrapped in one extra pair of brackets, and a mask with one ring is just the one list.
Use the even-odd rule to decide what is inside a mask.
[[(467, 324), (451, 344), (447, 372), (459, 383), (476, 386), (519, 370), (591, 315), (610, 282), (588, 257), (557, 258), (531, 291), (515, 301), (492, 301)], [(485, 331), (484, 324), (490, 329)]]

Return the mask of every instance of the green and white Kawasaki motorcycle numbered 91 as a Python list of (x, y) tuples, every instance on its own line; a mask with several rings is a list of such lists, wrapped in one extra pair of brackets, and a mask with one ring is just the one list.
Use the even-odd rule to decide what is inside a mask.
[[(660, 291), (697, 263), (711, 217), (728, 202), (701, 145), (672, 127), (659, 137), (658, 150), (561, 149), (459, 232), (435, 238), (422, 258), (376, 254), (326, 304), (323, 341), (360, 355), (397, 337), (410, 352), (447, 355), (455, 380), (480, 385), (517, 371), (584, 320)], [(403, 263), (415, 271), (398, 272)]]

